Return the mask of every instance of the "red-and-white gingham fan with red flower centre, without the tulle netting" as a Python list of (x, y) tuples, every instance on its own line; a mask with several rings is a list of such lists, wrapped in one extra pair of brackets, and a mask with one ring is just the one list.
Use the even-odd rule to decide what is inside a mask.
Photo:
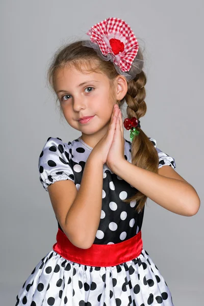
[(113, 55), (113, 62), (121, 71), (129, 71), (138, 53), (139, 44), (129, 24), (124, 20), (110, 17), (96, 23), (86, 33), (97, 43), (101, 53)]

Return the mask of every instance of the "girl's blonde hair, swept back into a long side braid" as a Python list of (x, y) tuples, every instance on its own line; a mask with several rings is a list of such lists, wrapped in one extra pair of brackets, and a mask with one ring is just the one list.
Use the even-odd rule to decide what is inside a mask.
[[(138, 50), (137, 58), (143, 60), (140, 48)], [(119, 75), (118, 72), (111, 61), (100, 59), (93, 48), (83, 46), (82, 40), (61, 46), (54, 54), (47, 71), (47, 81), (55, 93), (56, 72), (59, 68), (65, 66), (73, 66), (79, 71), (83, 70), (83, 66), (86, 67), (88, 71), (104, 73), (110, 81), (110, 95), (114, 98), (115, 91), (113, 90), (113, 81), (117, 75)], [(138, 73), (133, 80), (127, 82), (127, 92), (120, 101), (119, 108), (121, 108), (126, 101), (126, 114), (128, 118), (136, 117), (137, 119), (140, 119), (145, 115), (147, 109), (144, 101), (146, 96), (144, 88), (145, 84), (146, 75), (143, 70)], [(56, 99), (56, 102), (57, 100), (58, 98)], [(142, 129), (137, 127), (137, 130), (140, 133), (138, 136), (135, 136), (132, 141), (132, 164), (148, 171), (158, 173), (158, 152), (154, 144), (149, 140)], [(146, 200), (147, 196), (137, 190), (136, 194), (122, 201), (125, 203), (136, 201), (137, 205), (135, 210), (139, 212), (143, 210)]]

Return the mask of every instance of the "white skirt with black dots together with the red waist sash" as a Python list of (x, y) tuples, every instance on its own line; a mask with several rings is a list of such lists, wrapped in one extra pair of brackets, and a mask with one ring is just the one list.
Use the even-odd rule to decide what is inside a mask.
[(143, 249), (141, 231), (120, 243), (81, 249), (58, 228), (57, 243), (16, 299), (15, 306), (174, 306), (163, 276)]

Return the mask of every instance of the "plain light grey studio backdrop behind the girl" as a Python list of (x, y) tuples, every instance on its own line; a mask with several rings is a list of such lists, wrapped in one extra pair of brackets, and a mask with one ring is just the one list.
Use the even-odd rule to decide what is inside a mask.
[[(145, 47), (147, 113), (141, 127), (175, 158), (201, 207), (176, 215), (148, 200), (144, 248), (171, 290), (175, 306), (203, 303), (203, 2), (8, 1), (1, 11), (1, 304), (15, 305), (25, 279), (56, 242), (57, 220), (39, 181), (48, 137), (81, 133), (60, 120), (45, 75), (68, 39), (108, 17), (130, 24)], [(129, 133), (125, 138), (130, 140)], [(201, 303), (202, 301), (202, 303)], [(125, 305), (124, 305), (125, 306)]]

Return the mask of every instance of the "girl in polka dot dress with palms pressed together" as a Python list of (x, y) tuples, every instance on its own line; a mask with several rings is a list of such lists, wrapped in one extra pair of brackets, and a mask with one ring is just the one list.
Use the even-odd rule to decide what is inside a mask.
[(41, 151), (40, 182), (58, 221), (57, 242), (16, 306), (170, 306), (169, 288), (142, 244), (145, 202), (192, 216), (200, 199), (140, 127), (146, 76), (130, 26), (108, 18), (87, 34), (90, 40), (61, 48), (48, 70), (66, 121), (82, 135), (68, 143), (49, 137)]

